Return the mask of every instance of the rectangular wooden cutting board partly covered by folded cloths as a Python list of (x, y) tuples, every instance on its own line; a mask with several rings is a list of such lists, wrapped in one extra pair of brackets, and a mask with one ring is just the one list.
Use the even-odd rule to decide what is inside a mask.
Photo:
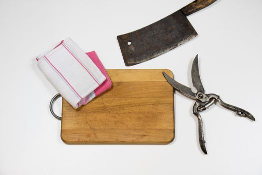
[(62, 100), (61, 138), (70, 144), (167, 144), (174, 139), (168, 69), (107, 69), (112, 88), (74, 109)]

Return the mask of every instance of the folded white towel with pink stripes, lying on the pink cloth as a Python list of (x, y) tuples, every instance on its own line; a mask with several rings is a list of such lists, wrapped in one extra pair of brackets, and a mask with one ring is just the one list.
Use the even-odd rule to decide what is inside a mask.
[(88, 102), (93, 99), (94, 90), (106, 79), (71, 38), (66, 38), (36, 59), (39, 69), (74, 108), (79, 107), (81, 100)]

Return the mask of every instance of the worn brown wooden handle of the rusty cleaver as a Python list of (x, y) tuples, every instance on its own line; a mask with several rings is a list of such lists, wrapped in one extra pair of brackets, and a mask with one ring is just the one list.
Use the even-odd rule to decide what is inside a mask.
[(195, 0), (188, 4), (187, 6), (184, 6), (181, 8), (182, 12), (188, 16), (198, 10), (201, 10), (202, 8), (207, 7), (208, 5), (212, 4), (216, 0)]

